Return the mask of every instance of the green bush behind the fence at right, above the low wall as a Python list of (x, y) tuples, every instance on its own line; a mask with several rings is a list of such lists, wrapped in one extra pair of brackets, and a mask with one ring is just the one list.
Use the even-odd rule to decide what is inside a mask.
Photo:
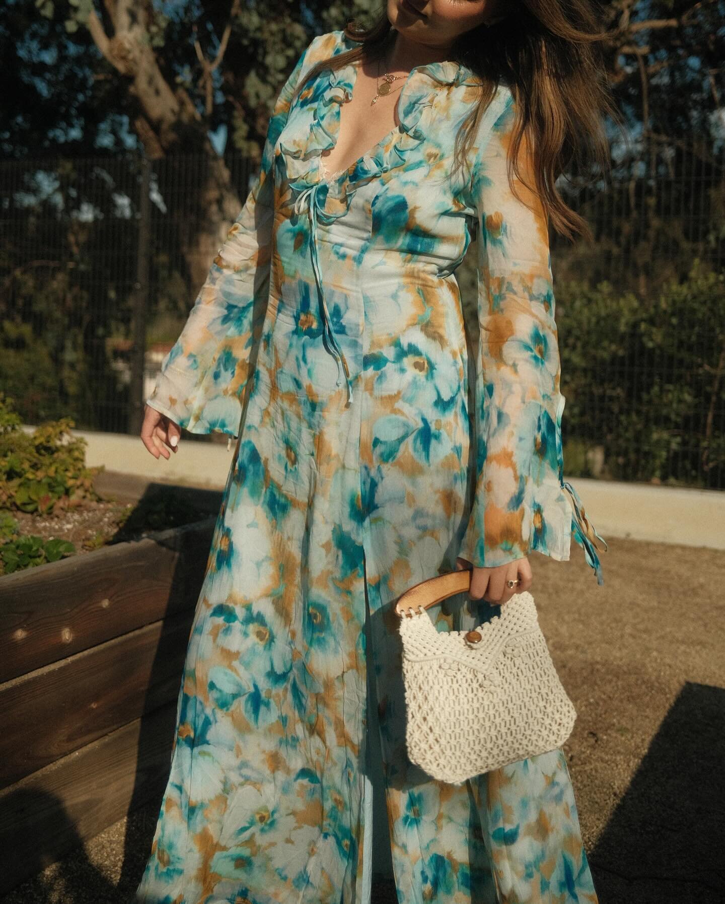
[[(720, 485), (725, 275), (695, 259), (686, 279), (653, 299), (573, 281), (560, 282), (556, 297), (567, 473), (591, 475), (601, 447), (602, 476)], [(586, 464), (580, 451), (568, 455), (567, 437), (587, 446)]]

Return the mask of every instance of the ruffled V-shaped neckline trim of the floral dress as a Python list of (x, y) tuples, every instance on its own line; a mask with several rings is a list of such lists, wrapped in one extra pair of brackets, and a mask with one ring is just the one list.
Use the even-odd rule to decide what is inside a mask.
[[(344, 33), (341, 37), (334, 56), (355, 46)], [(405, 163), (410, 151), (428, 134), (429, 120), (442, 89), (477, 83), (473, 73), (455, 61), (415, 66), (400, 89), (400, 125), (392, 128), (352, 165), (326, 175), (322, 155), (336, 144), (341, 108), (353, 96), (359, 65), (360, 61), (353, 61), (336, 71), (320, 72), (310, 86), (315, 106), (306, 139), (300, 142), (299, 137), (291, 135), (287, 140), (283, 137), (279, 144), (289, 187), (297, 196), (311, 186), (319, 185), (318, 210), (328, 219), (343, 215), (353, 194), (362, 185)], [(294, 202), (294, 198), (291, 200)]]

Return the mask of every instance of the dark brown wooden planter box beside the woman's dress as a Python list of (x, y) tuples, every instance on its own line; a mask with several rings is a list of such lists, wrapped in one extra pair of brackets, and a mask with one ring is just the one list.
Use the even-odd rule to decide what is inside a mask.
[(0, 894), (163, 791), (214, 523), (0, 579)]

